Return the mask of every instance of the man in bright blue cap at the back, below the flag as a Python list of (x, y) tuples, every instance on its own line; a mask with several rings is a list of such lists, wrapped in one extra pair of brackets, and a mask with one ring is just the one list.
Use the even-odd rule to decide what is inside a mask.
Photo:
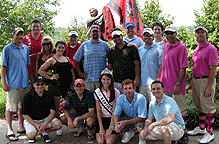
[(132, 43), (137, 48), (144, 45), (143, 40), (135, 35), (135, 24), (133, 22), (126, 23), (125, 28), (127, 35), (123, 38), (123, 41), (126, 43)]

